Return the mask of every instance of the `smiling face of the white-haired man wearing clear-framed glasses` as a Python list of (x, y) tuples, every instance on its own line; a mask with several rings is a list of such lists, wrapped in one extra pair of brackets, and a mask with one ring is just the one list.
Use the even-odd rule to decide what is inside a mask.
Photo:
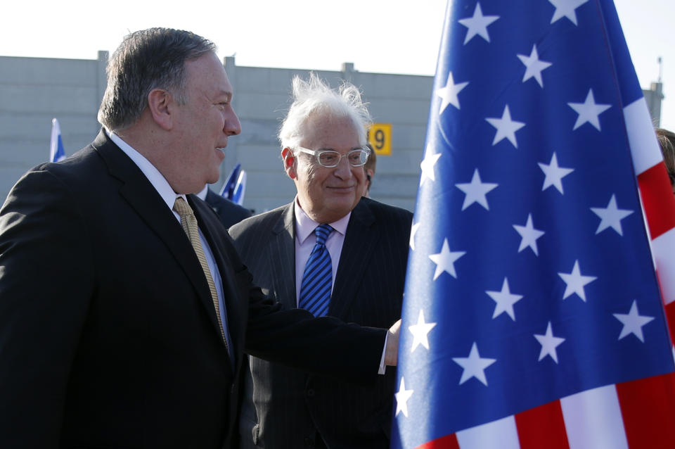
[[(335, 150), (341, 154), (361, 148), (354, 123), (346, 117), (319, 115), (304, 125), (300, 146), (311, 150)], [(364, 194), (364, 167), (352, 167), (341, 158), (337, 167), (322, 167), (314, 156), (282, 154), (288, 176), (295, 182), (300, 207), (314, 221), (330, 223), (347, 215)]]

